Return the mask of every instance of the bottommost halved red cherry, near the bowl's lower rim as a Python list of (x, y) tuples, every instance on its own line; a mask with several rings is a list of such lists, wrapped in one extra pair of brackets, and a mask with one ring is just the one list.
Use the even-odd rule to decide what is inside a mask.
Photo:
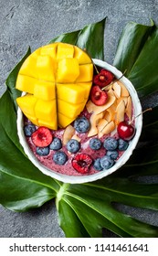
[(80, 174), (86, 174), (89, 172), (92, 159), (87, 154), (77, 154), (72, 158), (72, 166)]

